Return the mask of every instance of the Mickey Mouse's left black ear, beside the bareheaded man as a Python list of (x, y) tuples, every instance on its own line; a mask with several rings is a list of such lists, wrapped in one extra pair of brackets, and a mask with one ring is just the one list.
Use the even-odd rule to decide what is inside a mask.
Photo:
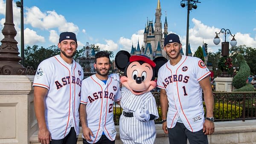
[(127, 51), (121, 50), (117, 52), (115, 57), (116, 67), (123, 72), (127, 66), (127, 63), (129, 62), (130, 57), (131, 55)]

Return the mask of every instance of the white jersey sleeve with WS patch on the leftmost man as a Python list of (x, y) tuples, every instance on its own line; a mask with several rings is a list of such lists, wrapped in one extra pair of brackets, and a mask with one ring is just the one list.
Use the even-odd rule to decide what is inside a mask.
[(51, 63), (49, 63), (49, 61), (47, 60), (42, 61), (38, 65), (38, 69), (35, 73), (33, 86), (40, 86), (49, 90), (51, 84), (51, 77), (54, 72), (54, 68), (51, 69), (51, 67)]

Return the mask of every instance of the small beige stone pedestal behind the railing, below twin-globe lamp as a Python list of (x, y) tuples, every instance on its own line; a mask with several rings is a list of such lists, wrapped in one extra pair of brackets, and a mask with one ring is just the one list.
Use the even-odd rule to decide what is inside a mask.
[(215, 90), (217, 92), (232, 92), (232, 80), (233, 78), (215, 78)]

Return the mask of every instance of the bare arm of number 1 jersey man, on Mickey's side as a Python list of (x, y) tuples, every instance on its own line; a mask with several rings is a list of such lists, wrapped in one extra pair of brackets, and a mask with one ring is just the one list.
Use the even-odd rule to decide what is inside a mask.
[[(161, 104), (161, 111), (162, 111), (162, 120), (166, 120), (167, 111), (168, 111), (168, 99), (167, 99), (165, 89), (160, 90), (160, 104)], [(168, 133), (166, 121), (163, 122), (163, 132)]]

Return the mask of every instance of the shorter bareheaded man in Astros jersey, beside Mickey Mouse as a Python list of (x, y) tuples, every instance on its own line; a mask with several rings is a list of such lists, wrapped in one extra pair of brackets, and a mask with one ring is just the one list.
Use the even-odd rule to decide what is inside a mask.
[(113, 121), (113, 102), (119, 104), (119, 81), (108, 76), (110, 59), (107, 52), (97, 52), (96, 74), (83, 80), (81, 86), (80, 121), (83, 144), (114, 144), (116, 129)]

